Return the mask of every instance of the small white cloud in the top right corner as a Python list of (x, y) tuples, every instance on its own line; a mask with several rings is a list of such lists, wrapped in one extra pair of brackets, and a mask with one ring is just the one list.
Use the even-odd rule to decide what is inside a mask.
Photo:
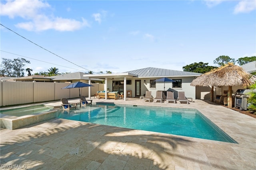
[(244, 1), (240, 1), (236, 5), (236, 7), (234, 9), (234, 14), (248, 13), (255, 9), (256, 9), (256, 1), (255, 0), (244, 0)]

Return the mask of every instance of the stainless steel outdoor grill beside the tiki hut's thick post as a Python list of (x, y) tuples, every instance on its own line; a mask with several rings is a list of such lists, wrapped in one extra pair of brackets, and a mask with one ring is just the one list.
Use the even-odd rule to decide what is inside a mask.
[(247, 93), (250, 92), (250, 89), (238, 89), (235, 93), (235, 108), (239, 108), (242, 110), (247, 110), (247, 99), (249, 95)]

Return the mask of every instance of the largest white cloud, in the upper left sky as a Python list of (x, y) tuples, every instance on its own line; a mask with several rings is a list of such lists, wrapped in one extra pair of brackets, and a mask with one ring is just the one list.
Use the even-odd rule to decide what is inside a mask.
[(47, 2), (39, 0), (9, 0), (6, 4), (0, 4), (0, 14), (10, 18), (21, 17), (28, 22), (20, 22), (16, 27), (28, 31), (74, 31), (86, 26), (90, 27), (88, 22), (82, 18), (82, 21), (46, 15), (43, 10), (51, 10)]

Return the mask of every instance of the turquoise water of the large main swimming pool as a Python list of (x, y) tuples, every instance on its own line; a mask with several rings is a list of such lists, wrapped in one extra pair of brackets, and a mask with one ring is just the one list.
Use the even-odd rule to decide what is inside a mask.
[(237, 143), (196, 109), (92, 105), (58, 118)]

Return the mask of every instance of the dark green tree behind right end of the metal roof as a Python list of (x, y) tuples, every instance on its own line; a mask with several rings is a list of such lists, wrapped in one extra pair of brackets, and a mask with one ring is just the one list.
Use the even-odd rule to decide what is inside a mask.
[(208, 63), (199, 62), (199, 63), (192, 63), (190, 65), (186, 65), (182, 68), (183, 68), (183, 71), (194, 72), (194, 73), (206, 73), (217, 67), (209, 66)]

